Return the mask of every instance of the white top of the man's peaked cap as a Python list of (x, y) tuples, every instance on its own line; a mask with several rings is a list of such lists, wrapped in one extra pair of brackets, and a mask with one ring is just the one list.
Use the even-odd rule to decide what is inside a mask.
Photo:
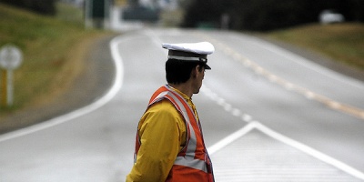
[(214, 45), (209, 42), (200, 43), (181, 43), (181, 44), (162, 44), (163, 48), (168, 50), (183, 51), (195, 53), (198, 55), (210, 55), (215, 51)]

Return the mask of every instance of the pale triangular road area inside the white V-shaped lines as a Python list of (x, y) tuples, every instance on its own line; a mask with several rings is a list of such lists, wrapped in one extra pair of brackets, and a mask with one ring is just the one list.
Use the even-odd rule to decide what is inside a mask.
[(362, 181), (255, 128), (211, 159), (220, 182)]

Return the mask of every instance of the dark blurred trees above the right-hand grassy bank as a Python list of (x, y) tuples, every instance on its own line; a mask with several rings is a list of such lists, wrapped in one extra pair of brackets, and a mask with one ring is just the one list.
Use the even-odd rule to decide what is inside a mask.
[(219, 25), (229, 15), (230, 28), (267, 31), (318, 22), (319, 14), (332, 9), (348, 21), (364, 22), (363, 0), (195, 0), (187, 1), (184, 26), (201, 22)]

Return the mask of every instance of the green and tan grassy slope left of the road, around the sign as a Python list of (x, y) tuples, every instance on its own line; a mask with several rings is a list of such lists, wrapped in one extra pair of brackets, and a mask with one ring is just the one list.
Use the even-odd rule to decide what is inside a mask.
[[(85, 67), (87, 48), (107, 34), (86, 30), (82, 13), (75, 15), (72, 6), (59, 4), (57, 9), (57, 15), (45, 16), (0, 4), (0, 46), (16, 45), (24, 57), (14, 72), (14, 106), (6, 107), (1, 100), (0, 123), (2, 116), (43, 105), (68, 89)], [(5, 89), (2, 85), (0, 93)]]

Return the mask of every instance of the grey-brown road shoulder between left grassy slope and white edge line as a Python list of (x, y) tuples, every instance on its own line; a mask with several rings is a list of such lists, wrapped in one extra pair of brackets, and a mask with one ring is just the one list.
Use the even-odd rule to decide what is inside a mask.
[(71, 88), (45, 105), (25, 108), (6, 116), (1, 122), (0, 134), (65, 115), (103, 96), (112, 86), (115, 77), (115, 66), (109, 48), (113, 37), (114, 35), (102, 36), (90, 46), (85, 56), (85, 70), (76, 77)]

